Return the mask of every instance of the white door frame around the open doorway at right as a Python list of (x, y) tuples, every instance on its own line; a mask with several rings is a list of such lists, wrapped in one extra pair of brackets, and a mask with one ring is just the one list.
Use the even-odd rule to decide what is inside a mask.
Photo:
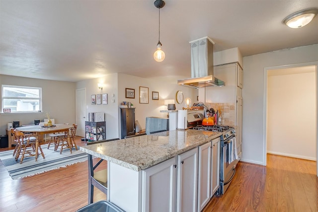
[[(275, 66), (275, 67), (266, 67), (264, 68), (264, 102), (263, 102), (263, 165), (266, 166), (266, 154), (267, 154), (267, 73), (270, 70), (274, 69), (286, 69), (286, 68), (295, 68), (295, 67), (304, 67), (304, 66), (316, 66), (316, 114), (318, 114), (318, 61), (309, 62), (309, 63), (301, 63), (301, 64), (292, 64), (292, 65), (283, 65), (283, 66)], [(316, 174), (318, 176), (318, 118), (316, 116)]]

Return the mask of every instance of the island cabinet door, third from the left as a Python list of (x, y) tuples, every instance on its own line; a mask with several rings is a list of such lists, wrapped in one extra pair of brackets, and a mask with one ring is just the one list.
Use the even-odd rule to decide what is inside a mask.
[(200, 212), (211, 198), (211, 142), (199, 146), (198, 155), (198, 211)]

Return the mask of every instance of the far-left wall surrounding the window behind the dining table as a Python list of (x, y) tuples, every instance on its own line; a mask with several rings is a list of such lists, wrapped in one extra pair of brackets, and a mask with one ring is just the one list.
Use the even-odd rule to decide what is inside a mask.
[[(46, 112), (56, 124), (75, 123), (75, 83), (35, 79), (0, 74), (0, 84), (42, 87), (43, 113), (0, 114), (0, 135), (5, 135), (7, 123), (20, 121), (20, 125), (34, 124), (35, 119), (43, 120)], [(0, 93), (1, 95), (1, 93)]]

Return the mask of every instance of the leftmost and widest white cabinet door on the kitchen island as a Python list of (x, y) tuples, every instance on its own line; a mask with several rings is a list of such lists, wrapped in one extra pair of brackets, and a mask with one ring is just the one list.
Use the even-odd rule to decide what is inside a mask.
[(143, 212), (175, 212), (176, 170), (174, 157), (143, 171)]

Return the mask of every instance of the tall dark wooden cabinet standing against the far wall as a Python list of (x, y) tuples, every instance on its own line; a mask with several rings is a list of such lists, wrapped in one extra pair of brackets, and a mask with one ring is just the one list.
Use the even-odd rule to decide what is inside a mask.
[(135, 108), (120, 108), (121, 139), (135, 135)]

